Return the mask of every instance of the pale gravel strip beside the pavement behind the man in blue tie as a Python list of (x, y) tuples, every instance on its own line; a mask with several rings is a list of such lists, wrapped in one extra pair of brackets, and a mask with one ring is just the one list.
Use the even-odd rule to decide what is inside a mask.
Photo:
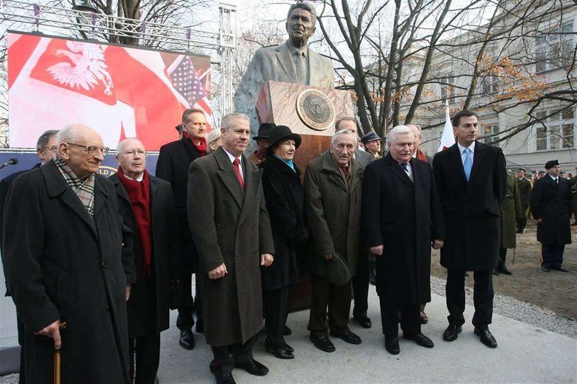
[[(444, 296), (445, 280), (431, 276), (431, 293)], [(465, 300), (466, 304), (473, 305), (473, 289), (466, 288)], [(547, 308), (497, 294), (493, 302), (493, 311), (525, 324), (577, 339), (577, 321), (557, 315)]]

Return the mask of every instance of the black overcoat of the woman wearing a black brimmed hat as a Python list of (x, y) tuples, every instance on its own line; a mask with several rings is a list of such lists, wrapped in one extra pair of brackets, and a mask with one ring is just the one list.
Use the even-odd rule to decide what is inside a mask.
[(262, 270), (262, 284), (265, 290), (280, 289), (299, 280), (297, 252), (308, 239), (304, 190), (297, 166), (293, 170), (278, 157), (267, 155), (260, 168), (275, 243), (275, 261)]

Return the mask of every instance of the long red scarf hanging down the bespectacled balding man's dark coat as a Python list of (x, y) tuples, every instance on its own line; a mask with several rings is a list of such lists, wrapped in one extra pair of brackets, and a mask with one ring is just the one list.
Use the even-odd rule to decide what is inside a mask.
[(140, 245), (142, 247), (142, 265), (144, 275), (152, 275), (152, 223), (150, 220), (150, 177), (148, 172), (144, 171), (142, 183), (136, 180), (128, 179), (122, 168), (118, 168), (118, 179), (128, 194), (128, 200), (131, 202), (138, 234), (140, 235)]

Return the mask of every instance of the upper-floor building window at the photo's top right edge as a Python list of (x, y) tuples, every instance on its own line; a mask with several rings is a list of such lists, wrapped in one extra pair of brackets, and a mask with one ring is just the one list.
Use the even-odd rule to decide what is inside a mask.
[(573, 21), (559, 25), (536, 38), (535, 71), (565, 67), (573, 59)]

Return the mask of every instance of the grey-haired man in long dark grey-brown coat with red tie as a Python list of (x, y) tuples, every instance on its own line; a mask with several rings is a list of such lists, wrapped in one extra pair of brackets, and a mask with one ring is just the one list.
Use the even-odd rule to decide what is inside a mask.
[(273, 236), (259, 170), (242, 153), (249, 117), (229, 113), (221, 123), (223, 146), (190, 164), (188, 218), (199, 250), (199, 280), (206, 342), (217, 383), (234, 383), (232, 369), (263, 376), (253, 359), (262, 329), (260, 268), (273, 262)]

